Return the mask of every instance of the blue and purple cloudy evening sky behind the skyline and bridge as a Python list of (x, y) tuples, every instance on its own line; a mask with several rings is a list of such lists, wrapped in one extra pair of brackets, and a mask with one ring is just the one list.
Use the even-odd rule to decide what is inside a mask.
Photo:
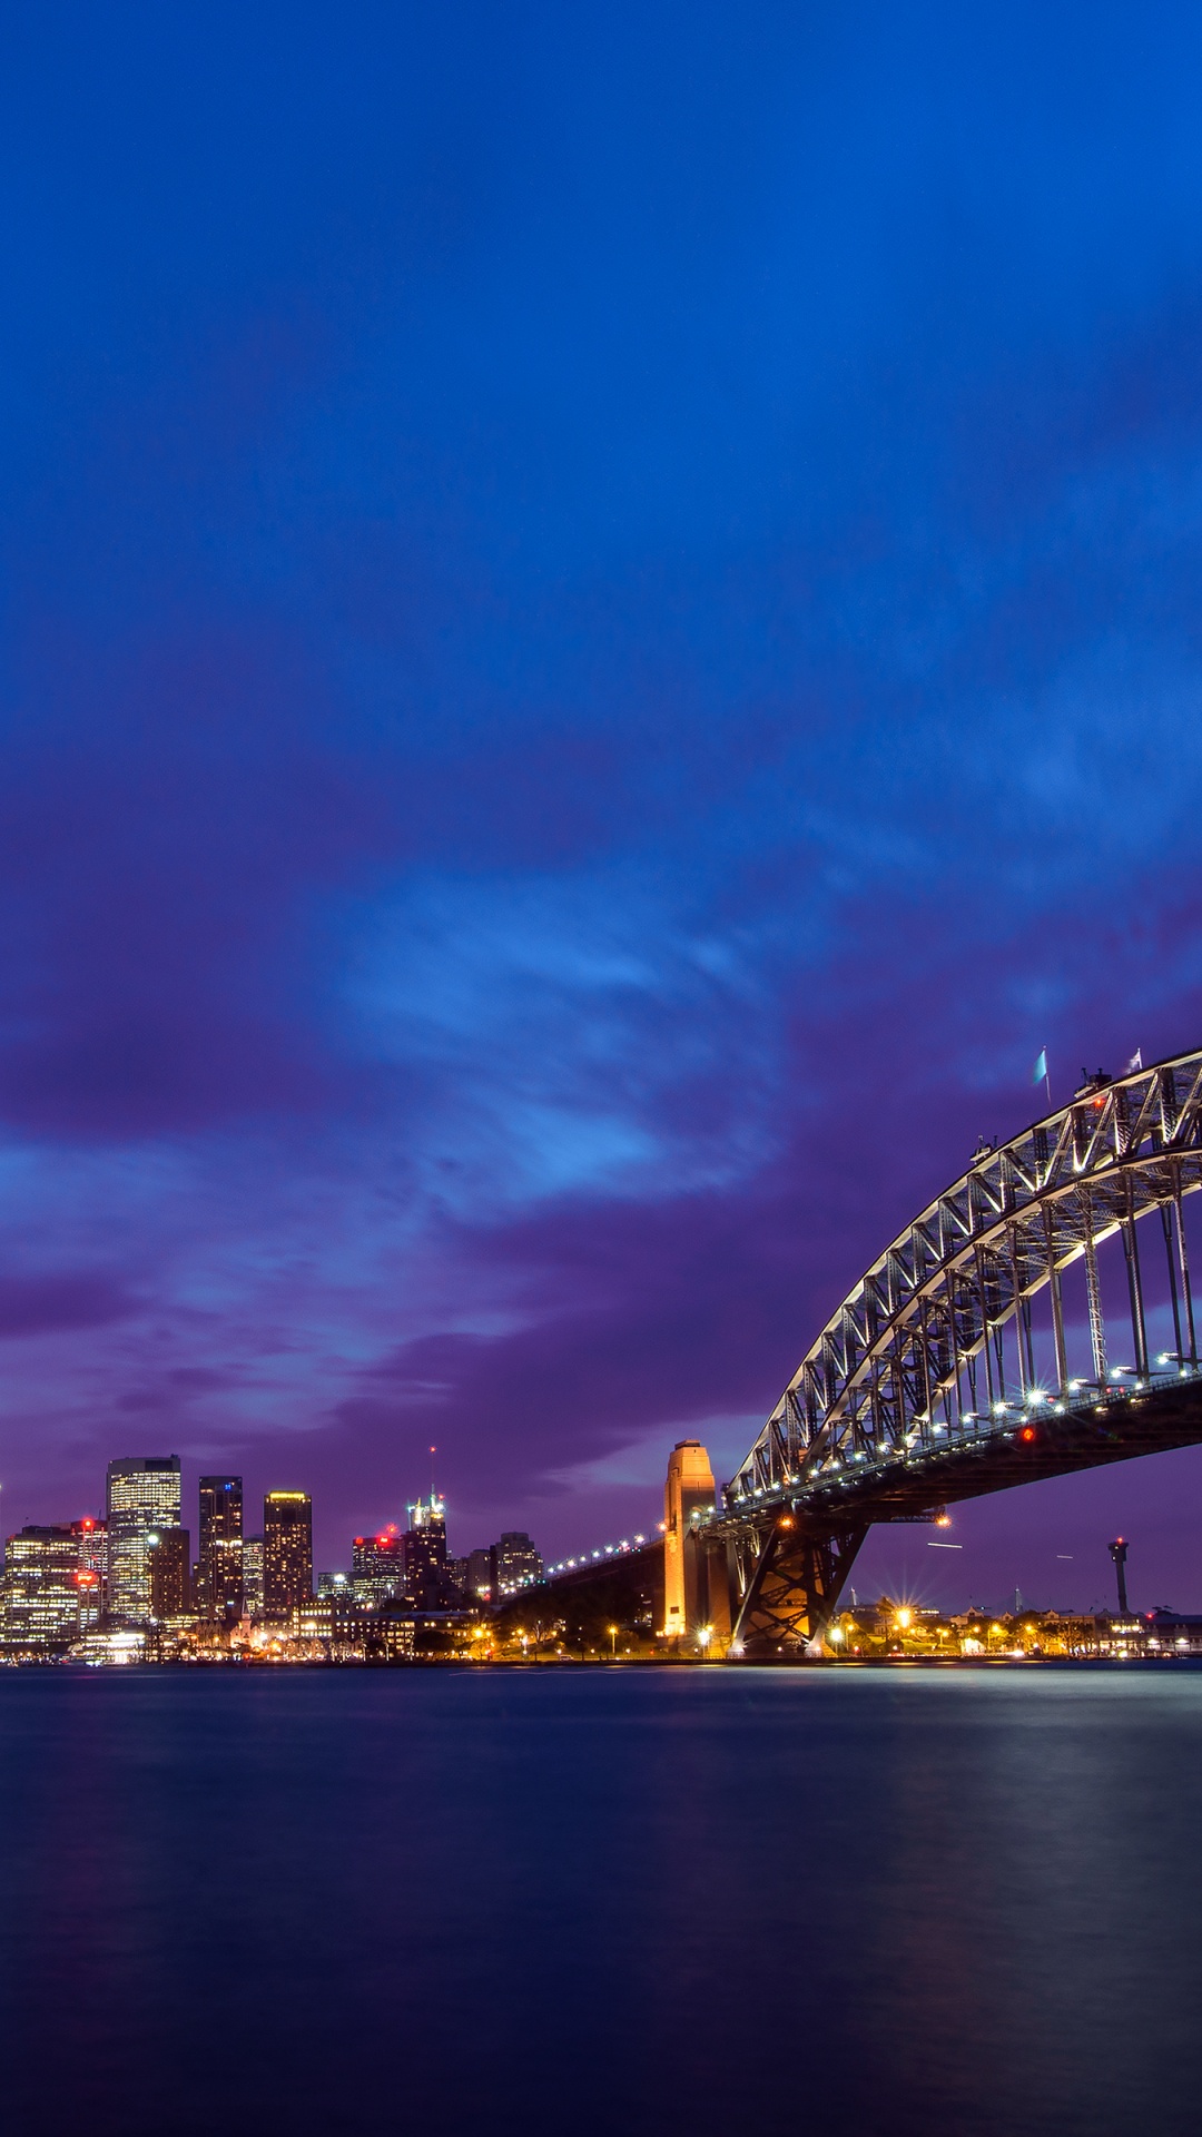
[[(1202, 15), (0, 15), (4, 1530), (729, 1475), (1202, 1043)], [(1202, 1451), (868, 1545), (1202, 1607)]]

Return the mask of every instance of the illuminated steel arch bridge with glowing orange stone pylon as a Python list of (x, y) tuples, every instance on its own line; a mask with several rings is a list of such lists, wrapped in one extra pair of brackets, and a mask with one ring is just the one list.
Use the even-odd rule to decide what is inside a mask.
[(821, 1654), (873, 1524), (1200, 1442), (1200, 1186), (1202, 1051), (1087, 1077), (982, 1145), (815, 1336), (731, 1483), (678, 1445), (665, 1633)]

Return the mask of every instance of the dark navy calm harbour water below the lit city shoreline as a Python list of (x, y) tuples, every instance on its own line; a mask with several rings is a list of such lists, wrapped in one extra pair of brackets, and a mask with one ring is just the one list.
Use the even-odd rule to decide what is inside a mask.
[(1202, 1673), (0, 1673), (4, 2126), (1202, 2120)]

